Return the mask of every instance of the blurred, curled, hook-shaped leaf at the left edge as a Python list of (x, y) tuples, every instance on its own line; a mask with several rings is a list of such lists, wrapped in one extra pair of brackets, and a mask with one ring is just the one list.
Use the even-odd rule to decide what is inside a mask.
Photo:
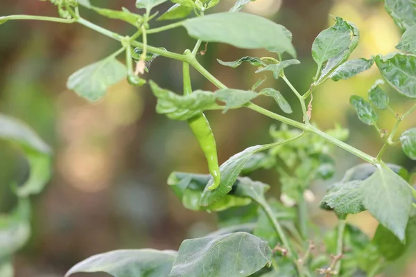
[(49, 146), (26, 124), (1, 114), (0, 139), (15, 143), (28, 159), (31, 171), (25, 183), (16, 188), (17, 195), (26, 197), (40, 193), (51, 177), (51, 149)]

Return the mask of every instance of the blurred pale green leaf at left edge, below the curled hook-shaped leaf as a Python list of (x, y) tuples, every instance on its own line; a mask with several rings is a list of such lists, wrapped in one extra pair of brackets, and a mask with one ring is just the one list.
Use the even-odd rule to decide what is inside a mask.
[(8, 258), (26, 244), (31, 235), (30, 214), (28, 199), (20, 198), (10, 215), (0, 215), (0, 260)]

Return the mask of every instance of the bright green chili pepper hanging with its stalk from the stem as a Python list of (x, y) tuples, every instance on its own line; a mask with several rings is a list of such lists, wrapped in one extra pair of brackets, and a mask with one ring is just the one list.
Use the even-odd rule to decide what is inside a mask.
[[(185, 51), (185, 53), (187, 53)], [(191, 78), (189, 75), (189, 64), (184, 62), (183, 64), (183, 78), (184, 78), (184, 95), (192, 93)], [(216, 151), (216, 142), (214, 134), (212, 133), (211, 126), (205, 117), (205, 114), (194, 116), (188, 120), (189, 127), (195, 135), (202, 152), (207, 159), (208, 170), (214, 178), (214, 184), (208, 187), (209, 190), (215, 190), (220, 186), (220, 167), (218, 166), (218, 157)]]

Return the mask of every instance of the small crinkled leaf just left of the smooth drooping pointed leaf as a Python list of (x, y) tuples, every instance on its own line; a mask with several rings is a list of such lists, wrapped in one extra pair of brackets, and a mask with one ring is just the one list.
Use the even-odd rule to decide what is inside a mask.
[(354, 214), (365, 211), (361, 198), (361, 183), (362, 181), (349, 181), (336, 184), (322, 199), (321, 208), (331, 208), (331, 210), (340, 214)]

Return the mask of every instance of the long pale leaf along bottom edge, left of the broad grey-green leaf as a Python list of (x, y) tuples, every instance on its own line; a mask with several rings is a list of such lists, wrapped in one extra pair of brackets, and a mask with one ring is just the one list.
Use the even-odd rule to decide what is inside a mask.
[(114, 277), (168, 276), (176, 251), (155, 249), (116, 250), (101, 253), (74, 265), (65, 277), (82, 272), (105, 272)]

